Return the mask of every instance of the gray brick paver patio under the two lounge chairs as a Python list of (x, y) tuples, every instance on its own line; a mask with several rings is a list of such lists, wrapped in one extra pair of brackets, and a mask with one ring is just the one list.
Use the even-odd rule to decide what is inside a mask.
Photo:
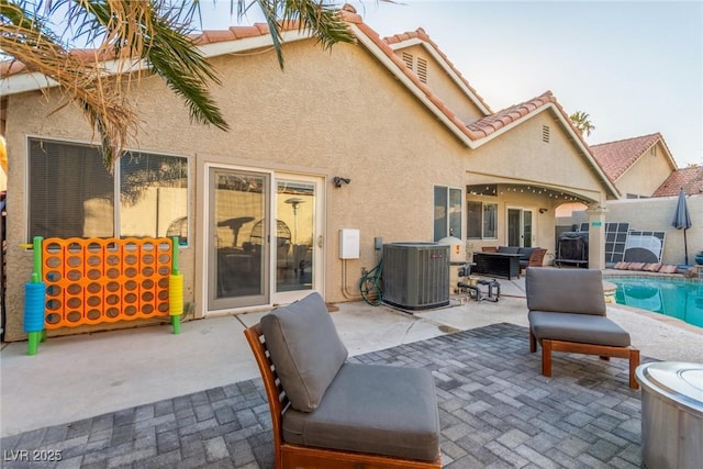
[[(494, 324), (349, 358), (429, 369), (443, 462), (460, 468), (636, 468), (640, 394), (627, 360), (554, 354)], [(272, 468), (260, 379), (2, 438), (3, 468)], [(60, 453), (60, 461), (47, 461)]]

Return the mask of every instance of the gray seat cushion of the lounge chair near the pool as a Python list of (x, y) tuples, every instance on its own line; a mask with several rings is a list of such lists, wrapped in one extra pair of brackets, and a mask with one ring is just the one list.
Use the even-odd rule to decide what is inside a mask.
[(537, 340), (555, 339), (581, 344), (629, 346), (629, 334), (605, 316), (531, 311), (529, 327)]

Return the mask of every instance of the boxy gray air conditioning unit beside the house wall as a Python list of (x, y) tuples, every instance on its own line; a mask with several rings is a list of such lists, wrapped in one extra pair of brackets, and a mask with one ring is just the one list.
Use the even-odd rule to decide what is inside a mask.
[(449, 245), (383, 245), (381, 298), (384, 303), (404, 310), (426, 310), (449, 304)]

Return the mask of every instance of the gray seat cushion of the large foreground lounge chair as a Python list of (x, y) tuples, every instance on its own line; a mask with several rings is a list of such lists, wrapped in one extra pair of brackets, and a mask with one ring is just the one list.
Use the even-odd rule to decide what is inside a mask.
[(436, 399), (423, 368), (345, 364), (315, 412), (284, 412), (283, 440), (433, 460), (439, 454)]

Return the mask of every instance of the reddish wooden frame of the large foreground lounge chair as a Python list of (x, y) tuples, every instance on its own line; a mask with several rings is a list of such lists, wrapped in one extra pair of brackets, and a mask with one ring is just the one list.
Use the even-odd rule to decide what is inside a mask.
[(438, 469), (442, 468), (442, 455), (433, 461), (421, 461), (415, 459), (401, 459), (390, 456), (353, 453), (326, 448), (315, 448), (309, 446), (293, 445), (283, 442), (282, 416), (290, 405), (286, 391), (280, 379), (276, 375), (276, 366), (271, 361), (261, 324), (257, 323), (244, 330), (256, 364), (264, 379), (266, 398), (271, 411), (271, 429), (274, 431), (274, 453), (276, 458), (276, 469), (287, 468), (341, 468), (341, 469), (381, 469), (381, 468), (405, 468), (405, 469)]

